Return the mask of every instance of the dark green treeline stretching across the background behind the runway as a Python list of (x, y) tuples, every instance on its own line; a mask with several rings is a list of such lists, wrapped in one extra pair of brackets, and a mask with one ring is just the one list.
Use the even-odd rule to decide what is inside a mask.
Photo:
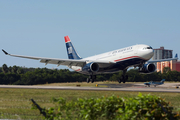
[[(115, 74), (97, 75), (96, 81), (117, 81), (122, 72)], [(127, 82), (147, 82), (147, 81), (179, 81), (180, 72), (164, 69), (164, 73), (154, 72), (152, 74), (140, 74), (137, 69), (127, 71)], [(69, 71), (68, 69), (47, 69), (47, 68), (24, 68), (19, 66), (7, 67), (4, 64), (0, 68), (0, 84), (14, 85), (35, 85), (46, 83), (63, 82), (85, 82), (87, 75)]]

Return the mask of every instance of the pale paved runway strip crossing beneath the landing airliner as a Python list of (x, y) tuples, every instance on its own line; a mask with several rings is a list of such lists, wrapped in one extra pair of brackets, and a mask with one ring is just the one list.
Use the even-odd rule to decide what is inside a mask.
[[(133, 92), (172, 92), (180, 93), (180, 88), (167, 83), (158, 87), (145, 87), (143, 84), (99, 84), (98, 87), (81, 87), (81, 86), (41, 86), (41, 85), (0, 85), (0, 88), (18, 88), (18, 89), (56, 89), (56, 90), (93, 90), (93, 91), (133, 91)], [(107, 86), (107, 87), (101, 87)]]

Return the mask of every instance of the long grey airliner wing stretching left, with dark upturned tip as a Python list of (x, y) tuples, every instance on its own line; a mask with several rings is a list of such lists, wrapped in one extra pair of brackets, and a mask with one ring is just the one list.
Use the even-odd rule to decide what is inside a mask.
[(99, 64), (113, 64), (115, 62), (111, 62), (111, 61), (99, 61), (99, 60), (95, 60), (95, 61), (89, 61), (89, 60), (83, 60), (83, 59), (58, 59), (58, 58), (45, 58), (45, 57), (33, 57), (33, 56), (24, 56), (24, 55), (14, 55), (14, 54), (9, 54), (7, 53), (5, 50), (2, 50), (6, 55), (9, 56), (13, 56), (13, 57), (20, 57), (20, 58), (28, 58), (28, 59), (34, 59), (34, 60), (40, 60), (41, 63), (45, 63), (45, 64), (56, 64), (56, 65), (74, 65), (74, 66), (81, 66), (83, 67), (85, 64), (89, 63), (89, 62), (96, 62)]

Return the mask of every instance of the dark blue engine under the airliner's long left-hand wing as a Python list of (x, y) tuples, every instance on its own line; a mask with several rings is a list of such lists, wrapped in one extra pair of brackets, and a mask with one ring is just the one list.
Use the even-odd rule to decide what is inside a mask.
[(86, 64), (83, 68), (83, 71), (87, 71), (87, 72), (97, 72), (99, 70), (99, 65), (97, 63), (88, 63)]

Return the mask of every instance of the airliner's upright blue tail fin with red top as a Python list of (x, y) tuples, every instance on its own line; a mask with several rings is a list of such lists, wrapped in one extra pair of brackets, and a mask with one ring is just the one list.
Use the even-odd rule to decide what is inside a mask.
[(76, 52), (73, 44), (71, 43), (71, 40), (69, 39), (69, 36), (65, 36), (65, 43), (67, 48), (67, 54), (69, 59), (82, 59)]

